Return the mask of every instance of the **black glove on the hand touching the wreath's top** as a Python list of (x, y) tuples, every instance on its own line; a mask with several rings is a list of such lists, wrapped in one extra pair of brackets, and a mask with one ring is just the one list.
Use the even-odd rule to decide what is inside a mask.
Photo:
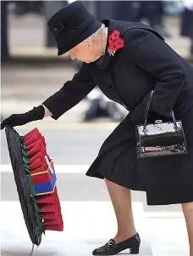
[(1, 123), (1, 130), (7, 125), (10, 127), (24, 125), (27, 122), (32, 122), (36, 120), (43, 119), (45, 115), (45, 109), (43, 105), (38, 105), (34, 107), (31, 111), (23, 114), (13, 114), (10, 117), (3, 120)]

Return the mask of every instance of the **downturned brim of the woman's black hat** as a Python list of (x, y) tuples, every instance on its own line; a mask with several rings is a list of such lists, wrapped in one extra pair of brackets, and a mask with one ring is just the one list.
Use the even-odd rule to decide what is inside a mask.
[(85, 41), (86, 38), (91, 37), (101, 26), (102, 23), (97, 20), (92, 22), (91, 25), (88, 26), (83, 33), (77, 35), (74, 40), (68, 43), (64, 42), (62, 47), (58, 47), (58, 56), (68, 53), (70, 49)]

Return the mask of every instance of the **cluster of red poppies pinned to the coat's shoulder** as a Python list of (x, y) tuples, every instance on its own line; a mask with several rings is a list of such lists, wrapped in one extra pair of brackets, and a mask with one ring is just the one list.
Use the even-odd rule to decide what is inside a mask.
[(108, 37), (108, 53), (114, 55), (119, 48), (124, 48), (124, 39), (120, 38), (119, 31), (113, 31)]

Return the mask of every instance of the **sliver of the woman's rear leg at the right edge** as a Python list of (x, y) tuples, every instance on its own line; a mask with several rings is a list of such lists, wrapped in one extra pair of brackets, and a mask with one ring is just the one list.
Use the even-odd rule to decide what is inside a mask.
[(183, 203), (182, 209), (185, 214), (185, 222), (188, 230), (190, 256), (193, 256), (193, 202)]

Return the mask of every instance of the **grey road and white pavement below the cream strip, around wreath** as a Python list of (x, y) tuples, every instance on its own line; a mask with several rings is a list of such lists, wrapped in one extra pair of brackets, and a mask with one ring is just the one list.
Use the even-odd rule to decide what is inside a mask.
[[(39, 128), (37, 123), (36, 127)], [(29, 129), (17, 131), (26, 134)], [(104, 182), (85, 176), (111, 128), (44, 129), (42, 133), (47, 139), (47, 151), (55, 163), (64, 231), (47, 232), (34, 255), (91, 255), (95, 247), (107, 242), (116, 232), (113, 208)], [(2, 255), (29, 255), (30, 238), (19, 207), (3, 132), (1, 159)], [(189, 256), (185, 219), (180, 206), (147, 207), (145, 193), (133, 191), (132, 197), (135, 225), (142, 240), (140, 255)]]

